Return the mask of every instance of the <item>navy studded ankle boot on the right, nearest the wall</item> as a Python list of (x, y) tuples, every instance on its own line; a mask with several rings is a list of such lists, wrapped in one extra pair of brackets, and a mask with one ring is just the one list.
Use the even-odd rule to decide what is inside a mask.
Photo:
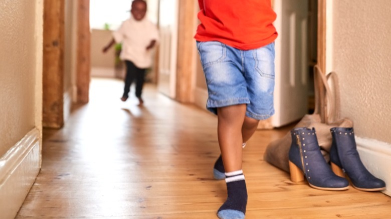
[(353, 187), (363, 191), (385, 189), (385, 182), (373, 176), (362, 164), (357, 152), (352, 127), (333, 127), (330, 129), (332, 144), (330, 149), (331, 168), (335, 174), (349, 176)]

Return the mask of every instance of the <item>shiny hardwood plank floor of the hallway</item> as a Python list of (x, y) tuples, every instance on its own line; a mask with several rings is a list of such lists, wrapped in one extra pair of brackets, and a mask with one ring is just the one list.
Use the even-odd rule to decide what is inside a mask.
[[(217, 118), (152, 85), (143, 106), (133, 90), (121, 102), (122, 86), (94, 78), (90, 103), (62, 129), (44, 130), (42, 170), (16, 218), (217, 218), (226, 199), (225, 181), (212, 177)], [(381, 192), (313, 189), (263, 161), (268, 142), (289, 129), (257, 130), (244, 149), (246, 218), (390, 217)]]

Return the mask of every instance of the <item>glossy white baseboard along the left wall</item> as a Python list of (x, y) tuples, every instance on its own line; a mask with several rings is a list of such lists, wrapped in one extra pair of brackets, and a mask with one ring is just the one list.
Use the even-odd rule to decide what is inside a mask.
[(0, 218), (15, 218), (41, 168), (40, 132), (29, 131), (0, 157)]

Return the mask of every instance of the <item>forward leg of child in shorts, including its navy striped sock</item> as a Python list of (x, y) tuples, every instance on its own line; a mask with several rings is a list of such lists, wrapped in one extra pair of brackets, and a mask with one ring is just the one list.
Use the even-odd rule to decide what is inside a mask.
[(228, 197), (218, 210), (220, 218), (244, 218), (247, 188), (242, 171), (242, 125), (246, 104), (221, 107), (217, 110), (218, 137), (225, 166)]

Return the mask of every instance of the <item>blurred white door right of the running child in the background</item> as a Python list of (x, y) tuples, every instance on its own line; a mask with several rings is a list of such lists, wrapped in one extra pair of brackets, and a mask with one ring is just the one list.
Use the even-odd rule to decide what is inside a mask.
[(157, 87), (163, 94), (175, 98), (178, 0), (160, 0), (159, 64)]

